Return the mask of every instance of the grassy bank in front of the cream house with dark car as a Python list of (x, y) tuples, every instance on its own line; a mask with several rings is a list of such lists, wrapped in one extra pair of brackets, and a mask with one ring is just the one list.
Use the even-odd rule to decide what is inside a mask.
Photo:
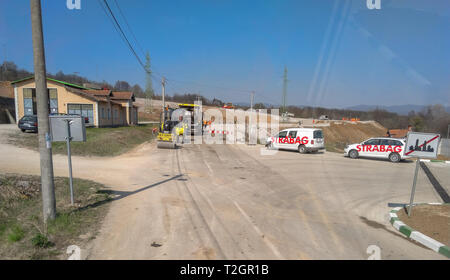
[[(124, 126), (124, 127), (102, 127), (86, 128), (86, 142), (72, 142), (72, 155), (78, 156), (117, 156), (134, 147), (151, 141), (153, 124)], [(38, 149), (37, 133), (10, 134), (9, 142), (20, 147)], [(65, 142), (52, 143), (53, 154), (67, 154)]]

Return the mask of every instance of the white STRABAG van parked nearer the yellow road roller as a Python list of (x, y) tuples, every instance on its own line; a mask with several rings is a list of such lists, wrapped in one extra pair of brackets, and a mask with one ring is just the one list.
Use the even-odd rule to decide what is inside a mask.
[(318, 128), (288, 128), (267, 138), (269, 149), (297, 150), (301, 154), (325, 149), (323, 132)]

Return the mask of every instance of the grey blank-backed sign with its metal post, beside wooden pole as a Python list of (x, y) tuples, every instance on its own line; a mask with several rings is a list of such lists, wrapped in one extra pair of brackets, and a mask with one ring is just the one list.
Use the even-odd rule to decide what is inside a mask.
[(50, 133), (52, 142), (65, 141), (69, 163), (70, 202), (73, 205), (72, 154), (70, 142), (86, 142), (84, 117), (79, 115), (50, 115)]

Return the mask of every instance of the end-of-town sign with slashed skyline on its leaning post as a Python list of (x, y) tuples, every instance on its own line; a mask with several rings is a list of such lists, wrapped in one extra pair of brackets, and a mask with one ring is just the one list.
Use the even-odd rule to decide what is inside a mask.
[(419, 172), (419, 164), (421, 158), (435, 159), (437, 158), (437, 150), (441, 136), (435, 133), (408, 132), (406, 138), (406, 147), (404, 155), (416, 157), (416, 169), (414, 171), (414, 180), (411, 190), (411, 198), (409, 200), (408, 217), (411, 216), (412, 205), (414, 202), (414, 194), (416, 192), (417, 174)]

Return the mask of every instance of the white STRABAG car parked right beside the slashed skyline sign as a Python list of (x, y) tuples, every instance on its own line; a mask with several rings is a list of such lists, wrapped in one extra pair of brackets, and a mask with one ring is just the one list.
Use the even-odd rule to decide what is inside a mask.
[(399, 162), (409, 158), (404, 155), (405, 140), (400, 138), (370, 138), (362, 143), (347, 145), (344, 155), (350, 158), (385, 158), (391, 162)]

